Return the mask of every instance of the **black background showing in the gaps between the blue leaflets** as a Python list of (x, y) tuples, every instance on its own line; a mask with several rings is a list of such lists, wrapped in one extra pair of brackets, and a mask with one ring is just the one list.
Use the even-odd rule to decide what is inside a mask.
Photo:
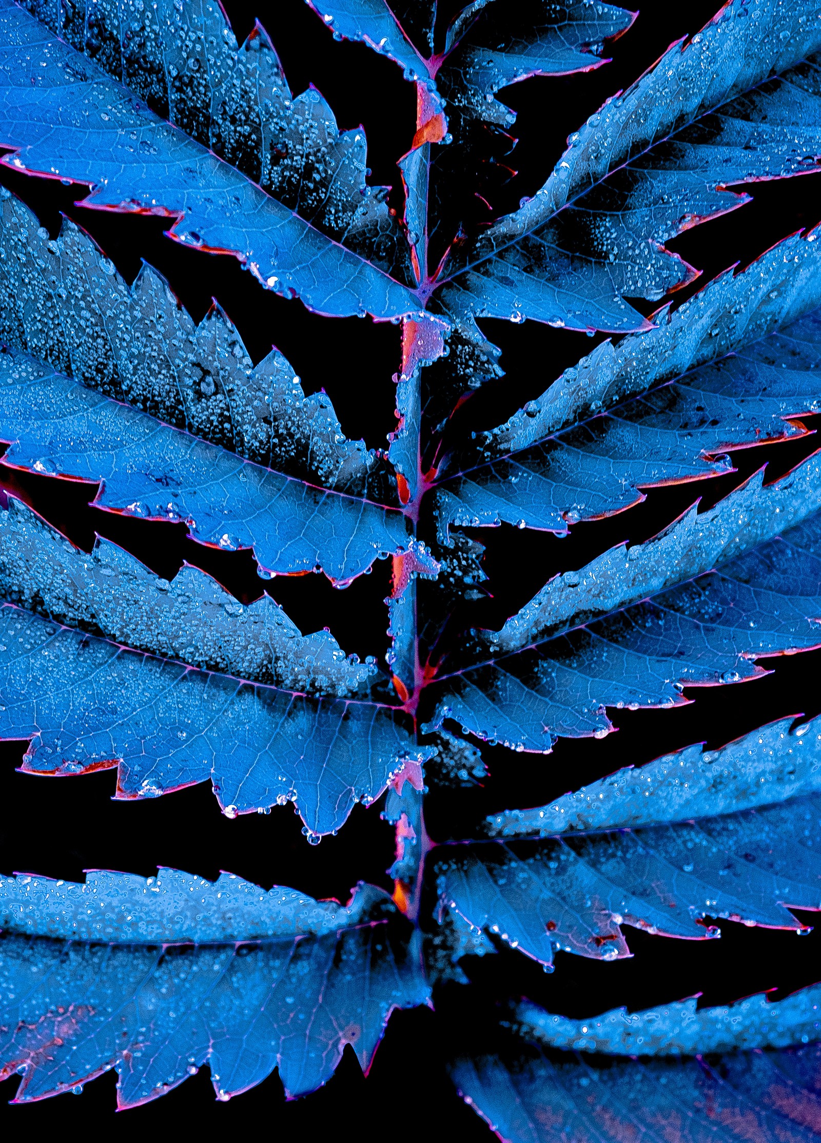
[[(266, 26), (295, 93), (313, 82), (342, 128), (365, 126), (370, 181), (396, 184), (394, 163), (415, 128), (414, 91), (399, 69), (362, 46), (335, 43), (301, 0), (276, 5), (236, 0), (226, 9), (240, 41), (254, 17)], [(694, 33), (712, 14), (714, 6), (702, 0), (688, 5), (649, 0), (633, 27), (607, 53), (612, 63), (566, 79), (528, 80), (503, 93), (504, 102), (518, 112), (519, 143), (508, 160), (518, 174), (497, 187), (493, 206), (512, 209), (523, 195), (532, 194), (544, 182), (569, 131), (652, 65), (672, 40)], [(194, 318), (201, 318), (216, 298), (237, 323), (255, 361), (274, 343), (306, 391), (325, 389), (330, 394), (346, 434), (365, 437), (369, 446), (384, 445), (385, 433), (394, 427), (396, 327), (310, 314), (300, 302), (285, 302), (263, 290), (236, 259), (169, 241), (164, 234), (168, 219), (74, 206), (86, 193), (82, 186), (63, 186), (6, 168), (0, 168), (0, 182), (33, 208), (53, 234), (59, 230), (59, 213), (71, 215), (128, 280), (136, 275), (141, 259), (156, 266)], [(781, 238), (821, 218), (821, 175), (757, 183), (744, 190), (752, 195), (750, 203), (669, 243), (703, 270), (694, 286), (676, 295), (676, 304), (720, 270), (747, 265)], [(645, 312), (651, 310), (645, 306)], [(504, 419), (596, 344), (584, 335), (535, 322), (486, 322), (485, 330), (503, 349), (507, 376), (499, 385), (488, 385), (472, 403), (471, 426)], [(804, 423), (813, 429), (813, 418)], [(580, 567), (620, 541), (653, 535), (698, 497), (702, 507), (709, 506), (764, 463), (767, 479), (773, 479), (814, 447), (814, 435), (807, 435), (789, 445), (736, 453), (735, 473), (655, 489), (641, 505), (609, 520), (579, 525), (561, 542), (508, 527), (477, 529), (477, 538), (487, 546), (484, 567), (493, 599), (477, 605), (484, 612), (473, 622), (497, 625), (556, 572)], [(377, 563), (370, 576), (344, 592), (335, 591), (322, 576), (263, 583), (255, 575), (250, 553), (213, 552), (186, 539), (182, 525), (125, 520), (89, 507), (88, 485), (19, 473), (2, 464), (0, 482), (86, 549), (97, 531), (167, 577), (185, 559), (209, 570), (245, 601), (268, 586), (303, 632), (327, 625), (346, 652), (384, 655), (381, 601), (389, 586), (386, 563)], [(767, 677), (734, 687), (691, 689), (686, 693), (690, 705), (676, 710), (612, 711), (617, 733), (604, 741), (560, 741), (547, 758), (487, 748), (491, 777), (484, 788), (429, 799), (432, 836), (468, 836), (471, 823), (492, 810), (539, 805), (620, 766), (648, 761), (691, 742), (717, 746), (771, 719), (821, 710), (821, 652), (773, 658), (763, 665), (771, 671)], [(266, 888), (289, 885), (343, 901), (360, 879), (391, 887), (385, 869), (392, 861), (393, 836), (380, 818), (381, 804), (367, 810), (357, 807), (338, 837), (309, 847), (290, 807), (274, 809), (270, 816), (252, 814), (229, 821), (206, 786), (144, 802), (117, 802), (112, 800), (113, 773), (63, 781), (22, 775), (16, 772), (22, 751), (22, 744), (0, 744), (0, 870), (5, 873), (25, 871), (77, 880), (89, 868), (149, 876), (159, 864), (208, 878), (229, 870)], [(803, 914), (803, 920), (812, 924), (812, 914)], [(276, 1076), (228, 1104), (216, 1103), (204, 1068), (161, 1100), (114, 1120), (112, 1072), (89, 1084), (80, 1097), (65, 1095), (27, 1105), (0, 1103), (2, 1124), (18, 1133), (73, 1128), (117, 1130), (118, 1135), (150, 1129), (250, 1134), (262, 1128), (288, 1140), (343, 1132), (362, 1137), (423, 1133), (428, 1140), (456, 1135), (465, 1143), (488, 1140), (488, 1128), (451, 1087), (444, 1058), (463, 1038), (492, 1048), (496, 1005), (505, 997), (527, 994), (551, 1010), (591, 1016), (615, 1005), (640, 1008), (694, 993), (702, 993), (704, 1004), (764, 989), (786, 994), (821, 977), (816, 967), (821, 935), (799, 940), (792, 932), (750, 929), (726, 921), (720, 927), (720, 941), (673, 941), (628, 929), (632, 959), (606, 964), (559, 953), (552, 975), (505, 949), (499, 956), (468, 961), (471, 986), (443, 989), (436, 997), (436, 1012), (423, 1008), (393, 1015), (367, 1079), (348, 1049), (325, 1088), (292, 1103), (285, 1102)], [(6, 1098), (13, 1096), (15, 1084), (13, 1079), (3, 1086)]]

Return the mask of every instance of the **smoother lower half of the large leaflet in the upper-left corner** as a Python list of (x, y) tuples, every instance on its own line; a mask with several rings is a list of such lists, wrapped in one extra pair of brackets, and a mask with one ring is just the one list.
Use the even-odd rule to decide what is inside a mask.
[[(165, 35), (176, 35), (170, 16), (176, 9), (172, 5), (168, 8), (154, 49)], [(212, 11), (217, 15), (216, 6)], [(145, 21), (159, 18), (151, 6), (145, 9)], [(218, 19), (222, 22), (221, 15)], [(222, 24), (221, 33), (223, 27), (226, 25)], [(224, 35), (216, 37), (216, 43), (223, 41), (228, 42)], [(98, 206), (129, 209), (136, 205), (154, 213), (183, 215), (175, 238), (237, 253), (271, 289), (286, 296), (298, 295), (320, 313), (344, 317), (368, 312), (386, 318), (421, 309), (401, 280), (368, 261), (368, 256), (376, 257), (373, 242), (366, 243), (368, 256), (362, 256), (324, 234), (209, 151), (210, 135), (204, 145), (164, 122), (142, 102), (142, 93), (135, 98), (87, 56), (49, 34), (13, 0), (0, 3), (0, 42), (3, 141), (19, 149), (13, 160), (15, 166), (91, 183), (95, 193), (88, 201)], [(189, 72), (200, 66), (193, 45), (191, 48), (190, 58), (198, 66), (189, 65)], [(196, 88), (191, 95), (196, 96)], [(240, 93), (233, 97), (242, 104)], [(306, 123), (313, 114), (313, 102), (309, 95)], [(194, 113), (199, 110), (194, 99)], [(352, 142), (349, 139), (349, 145)], [(302, 166), (301, 159), (296, 166)], [(384, 217), (390, 218), (386, 213)], [(354, 221), (345, 225), (354, 229)], [(399, 258), (399, 271), (404, 273), (397, 242), (390, 234), (388, 253), (386, 261), (382, 259), (386, 269), (392, 270)]]

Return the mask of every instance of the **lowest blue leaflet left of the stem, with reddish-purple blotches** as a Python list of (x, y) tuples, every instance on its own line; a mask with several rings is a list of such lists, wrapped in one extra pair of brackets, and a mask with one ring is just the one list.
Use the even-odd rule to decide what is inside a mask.
[(428, 996), (394, 914), (373, 886), (341, 908), (174, 870), (0, 881), (0, 1076), (26, 1102), (113, 1068), (128, 1108), (204, 1064), (218, 1100), (274, 1068), (311, 1092), (348, 1044), (366, 1070), (391, 1010)]

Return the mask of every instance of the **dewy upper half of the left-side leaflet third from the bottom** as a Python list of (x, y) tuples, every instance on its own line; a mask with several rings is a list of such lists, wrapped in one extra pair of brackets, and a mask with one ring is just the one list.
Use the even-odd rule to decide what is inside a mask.
[(53, 241), (8, 191), (0, 199), (3, 344), (248, 461), (397, 503), (390, 466), (344, 438), (329, 398), (305, 397), (278, 350), (253, 367), (217, 306), (197, 326), (149, 265), (129, 289), (70, 219)]

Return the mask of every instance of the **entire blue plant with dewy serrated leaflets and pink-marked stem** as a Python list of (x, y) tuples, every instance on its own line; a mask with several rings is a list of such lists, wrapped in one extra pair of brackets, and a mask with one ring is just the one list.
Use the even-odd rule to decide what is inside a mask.
[[(444, 26), (432, 0), (316, 10), (415, 86), (393, 189), (368, 183), (362, 129), (341, 131), (313, 87), (294, 96), (268, 32), (238, 46), (216, 0), (0, 0), (1, 161), (85, 183), (95, 207), (173, 216), (177, 242), (236, 255), (317, 314), (393, 322), (385, 448), (346, 439), (277, 349), (254, 365), (218, 306), (198, 325), (151, 266), (129, 286), (75, 223), (51, 238), (7, 190), (0, 435), (17, 470), (91, 482), (99, 506), (183, 522), (202, 549), (252, 550), (263, 578), (346, 588), (390, 559), (386, 660), (197, 567), (169, 582), (109, 541), (83, 552), (9, 495), (0, 736), (27, 741), (32, 774), (115, 768), (118, 798), (210, 782), (229, 817), (290, 802), (310, 842), (384, 796), (396, 892), (360, 882), (341, 905), (166, 869), (0, 880), (0, 1077), (23, 1076), (18, 1101), (114, 1069), (130, 1106), (204, 1064), (221, 1100), (276, 1069), (302, 1095), (348, 1045), (367, 1070), (392, 1009), (467, 983), (464, 957), (507, 943), (548, 969), (557, 952), (614, 961), (624, 926), (806, 932), (790, 910), (821, 908), (821, 717), (692, 745), (467, 838), (437, 844), (424, 822), (431, 790), (484, 776), (480, 744), (512, 767), (607, 736), (608, 710), (679, 706), (685, 687), (821, 645), (818, 454), (548, 578), (499, 630), (467, 606), (484, 594), (473, 529), (565, 536), (807, 434), (821, 229), (677, 307), (646, 303), (698, 277), (665, 243), (743, 206), (733, 185), (821, 168), (821, 3), (728, 0), (481, 225), (465, 201), (488, 147), (510, 149), (502, 89), (599, 66), (633, 14), (477, 0)], [(556, 379), (536, 362), (541, 397), (470, 431), (460, 410), (503, 376), (484, 319), (614, 337)], [(742, 1122), (818, 1137), (818, 1005), (816, 985), (576, 1021), (513, 1000), (496, 1047), (454, 1049), (452, 1073), (517, 1143), (621, 1140), (639, 1121), (653, 1138), (752, 1137)]]

